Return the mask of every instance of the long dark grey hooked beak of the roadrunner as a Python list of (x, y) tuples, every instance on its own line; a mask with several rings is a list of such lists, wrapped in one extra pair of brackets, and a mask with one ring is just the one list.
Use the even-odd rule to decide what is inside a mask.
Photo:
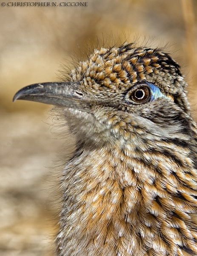
[(31, 84), (20, 89), (13, 98), (66, 106), (88, 111), (93, 100), (79, 89), (80, 82), (49, 82)]

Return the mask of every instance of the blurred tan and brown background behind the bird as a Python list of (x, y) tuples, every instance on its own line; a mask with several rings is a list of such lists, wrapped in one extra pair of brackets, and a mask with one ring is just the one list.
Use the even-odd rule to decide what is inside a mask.
[[(1, 1), (2, 2), (2, 1)], [(6, 0), (6, 3), (8, 0)], [(75, 1), (77, 2), (77, 1)], [(57, 4), (60, 3), (57, 2)], [(17, 101), (37, 82), (59, 81), (60, 63), (97, 38), (149, 39), (183, 67), (197, 120), (197, 1), (87, 0), (87, 7), (0, 6), (0, 255), (52, 256), (54, 215), (49, 169), (61, 140), (48, 105)], [(79, 48), (80, 47), (80, 48)], [(66, 59), (66, 61), (65, 61)]]

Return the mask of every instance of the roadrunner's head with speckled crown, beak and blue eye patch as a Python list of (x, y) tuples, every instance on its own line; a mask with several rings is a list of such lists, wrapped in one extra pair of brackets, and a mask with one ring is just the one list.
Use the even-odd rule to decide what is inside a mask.
[(58, 105), (84, 140), (125, 143), (142, 134), (169, 138), (188, 130), (186, 83), (180, 66), (160, 49), (127, 43), (95, 49), (69, 77), (24, 87), (14, 100)]

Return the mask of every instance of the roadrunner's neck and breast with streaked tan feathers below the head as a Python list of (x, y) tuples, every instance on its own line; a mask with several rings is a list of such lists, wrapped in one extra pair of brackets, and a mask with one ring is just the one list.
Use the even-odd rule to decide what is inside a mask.
[(197, 255), (190, 150), (155, 143), (166, 151), (139, 154), (132, 143), (75, 152), (62, 180), (60, 255)]

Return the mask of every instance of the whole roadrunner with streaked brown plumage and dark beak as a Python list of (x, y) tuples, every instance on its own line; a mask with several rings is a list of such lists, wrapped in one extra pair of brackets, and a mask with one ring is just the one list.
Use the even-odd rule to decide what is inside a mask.
[(197, 125), (163, 50), (95, 49), (69, 81), (15, 99), (57, 105), (76, 151), (61, 177), (58, 256), (197, 256)]

